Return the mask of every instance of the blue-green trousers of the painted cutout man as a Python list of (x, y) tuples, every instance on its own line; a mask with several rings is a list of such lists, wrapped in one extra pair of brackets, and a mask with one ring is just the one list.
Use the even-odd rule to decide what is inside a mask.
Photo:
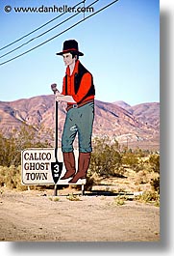
[(94, 103), (89, 102), (79, 108), (70, 108), (67, 111), (62, 132), (62, 152), (72, 152), (73, 142), (78, 133), (79, 152), (89, 153), (94, 119)]

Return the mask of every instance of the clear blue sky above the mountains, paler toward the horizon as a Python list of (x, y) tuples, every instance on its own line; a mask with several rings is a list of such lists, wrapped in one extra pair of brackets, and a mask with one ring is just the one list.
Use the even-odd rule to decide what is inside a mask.
[[(39, 7), (56, 5), (74, 6), (80, 0), (1, 0), (0, 48), (26, 35), (59, 13), (21, 14), (5, 13), (4, 7)], [(86, 1), (86, 6), (92, 3)], [(99, 0), (94, 12), (111, 3)], [(83, 6), (83, 5), (82, 5)], [(88, 15), (87, 13), (85, 14)], [(26, 43), (38, 34), (57, 25), (70, 16), (45, 26), (30, 37), (0, 50), (0, 56)], [(3, 63), (16, 55), (42, 43), (81, 20), (78, 14), (62, 26), (47, 33), (4, 58)], [(160, 3), (159, 0), (119, 0), (105, 11), (93, 15), (78, 26), (36, 50), (0, 66), (0, 100), (12, 101), (52, 94), (50, 85), (58, 84), (62, 90), (65, 67), (62, 43), (75, 39), (84, 52), (80, 61), (93, 74), (96, 99), (108, 102), (124, 100), (131, 105), (160, 101)]]

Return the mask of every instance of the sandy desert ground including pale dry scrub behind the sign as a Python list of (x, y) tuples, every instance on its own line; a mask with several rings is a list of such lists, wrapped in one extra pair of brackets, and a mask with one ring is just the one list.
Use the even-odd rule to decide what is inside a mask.
[(53, 185), (2, 185), (0, 241), (160, 242), (160, 201), (146, 175), (98, 178), (84, 195), (81, 185), (58, 185), (56, 196)]

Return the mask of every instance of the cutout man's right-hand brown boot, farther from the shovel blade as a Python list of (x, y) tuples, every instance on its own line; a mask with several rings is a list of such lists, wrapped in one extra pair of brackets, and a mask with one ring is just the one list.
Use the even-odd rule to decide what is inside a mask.
[(87, 176), (87, 169), (90, 162), (90, 153), (79, 153), (78, 172), (69, 181), (69, 184), (76, 184), (79, 179), (85, 179)]

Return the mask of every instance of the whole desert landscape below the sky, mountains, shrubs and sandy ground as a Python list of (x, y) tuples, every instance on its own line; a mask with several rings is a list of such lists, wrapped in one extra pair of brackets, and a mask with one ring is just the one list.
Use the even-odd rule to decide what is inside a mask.
[[(60, 140), (64, 116), (60, 104)], [(54, 123), (52, 95), (0, 101), (0, 241), (160, 242), (160, 103), (130, 106), (95, 100), (93, 143), (97, 138), (99, 144), (94, 153), (98, 145), (104, 149), (108, 138), (111, 145), (117, 141), (117, 167), (109, 168), (108, 176), (89, 170), (93, 182), (84, 195), (77, 185), (60, 185), (57, 196), (53, 185), (21, 185), (19, 158), (14, 161), (13, 156), (15, 150), (20, 154), (22, 141), (15, 135), (25, 125), (35, 138), (54, 145)], [(99, 160), (103, 165), (104, 158)]]

